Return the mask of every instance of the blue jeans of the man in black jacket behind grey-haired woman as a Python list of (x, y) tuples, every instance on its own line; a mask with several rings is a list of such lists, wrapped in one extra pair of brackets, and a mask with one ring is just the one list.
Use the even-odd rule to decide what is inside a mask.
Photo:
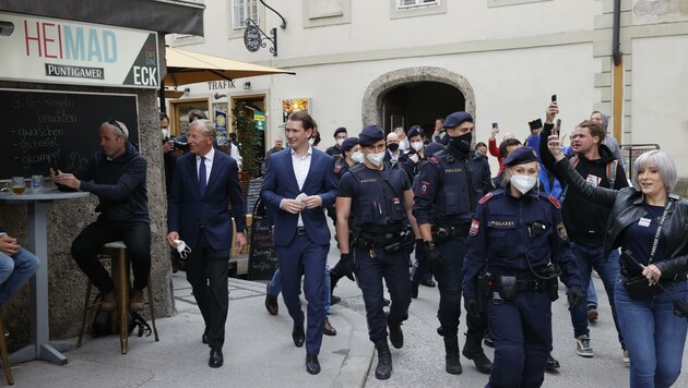
[[(607, 298), (609, 300), (609, 306), (612, 306), (612, 316), (614, 317), (614, 325), (619, 336), (619, 342), (621, 348), (626, 349), (624, 344), (624, 337), (619, 330), (618, 319), (616, 318), (616, 307), (614, 306), (614, 282), (619, 276), (621, 269), (619, 265), (619, 251), (614, 250), (609, 254), (609, 257), (605, 259), (604, 248), (601, 245), (588, 245), (571, 243), (571, 253), (576, 257), (576, 264), (581, 276), (583, 290), (588, 289), (590, 283), (590, 275), (592, 269), (597, 270), (597, 275), (604, 283), (604, 289), (607, 291)], [(584, 303), (579, 304), (577, 308), (571, 311), (571, 324), (573, 325), (573, 337), (580, 337), (583, 335), (590, 335), (588, 328), (588, 306)]]

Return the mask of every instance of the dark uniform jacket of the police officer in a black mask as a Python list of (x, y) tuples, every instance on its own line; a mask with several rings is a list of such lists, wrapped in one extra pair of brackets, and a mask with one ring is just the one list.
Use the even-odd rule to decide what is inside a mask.
[(420, 169), (413, 215), (418, 225), (467, 225), (478, 199), (491, 189), (489, 165), (475, 150), (468, 155), (440, 150)]

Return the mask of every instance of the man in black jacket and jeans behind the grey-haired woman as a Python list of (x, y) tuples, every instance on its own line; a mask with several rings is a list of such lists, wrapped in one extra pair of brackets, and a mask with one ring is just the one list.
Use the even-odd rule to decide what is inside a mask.
[[(551, 172), (555, 172), (553, 170), (555, 160), (547, 149), (547, 137), (551, 134), (553, 121), (558, 111), (557, 102), (551, 102), (547, 108), (545, 128), (539, 134), (539, 155), (543, 165)], [(615, 159), (609, 148), (603, 144), (604, 137), (605, 132), (600, 123), (596, 121), (581, 122), (571, 134), (571, 148), (574, 153), (570, 159), (571, 165), (588, 182), (594, 185), (615, 190), (628, 187), (624, 167)], [(564, 182), (562, 177), (556, 178)], [(571, 252), (576, 256), (583, 279), (583, 290), (588, 289), (593, 268), (602, 278), (626, 361), (628, 353), (618, 327), (614, 305), (614, 282), (619, 275), (619, 252), (618, 250), (612, 251), (609, 257), (605, 257), (603, 246), (609, 210), (588, 201), (574, 190), (565, 187), (561, 194), (561, 214), (569, 240), (571, 240)], [(592, 357), (594, 352), (590, 343), (585, 304), (571, 311), (571, 324), (576, 337), (576, 353), (583, 357)]]

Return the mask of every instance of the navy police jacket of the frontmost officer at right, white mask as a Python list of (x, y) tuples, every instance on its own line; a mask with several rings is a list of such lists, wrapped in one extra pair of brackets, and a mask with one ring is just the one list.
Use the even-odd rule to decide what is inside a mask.
[(557, 263), (568, 287), (581, 284), (559, 203), (537, 189), (519, 198), (505, 189), (485, 195), (471, 222), (467, 245), (463, 264), (465, 298), (475, 298), (474, 280), (483, 270), (519, 280), (536, 279), (527, 260), (538, 274)]

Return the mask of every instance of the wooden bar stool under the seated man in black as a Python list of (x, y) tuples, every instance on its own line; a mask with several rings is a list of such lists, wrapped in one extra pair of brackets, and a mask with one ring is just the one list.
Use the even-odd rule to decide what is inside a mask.
[[(127, 245), (121, 241), (115, 241), (103, 245), (100, 250), (100, 256), (110, 257), (112, 281), (117, 289), (117, 310), (112, 315), (115, 325), (119, 327), (119, 342), (122, 349), (122, 354), (127, 354), (127, 348), (129, 344), (129, 256), (127, 255)], [(93, 283), (91, 280), (86, 281), (86, 301), (84, 303), (84, 313), (81, 320), (81, 331), (79, 332), (79, 341), (76, 347), (81, 348), (81, 343), (84, 337), (86, 328), (86, 316), (88, 310), (95, 310), (97, 305), (91, 304), (91, 289)], [(149, 276), (149, 307), (151, 311), (151, 322), (153, 324), (153, 332), (155, 335), (155, 341), (159, 341), (157, 336), (157, 327), (155, 327), (155, 311), (153, 307), (153, 288), (151, 284), (151, 276)]]

